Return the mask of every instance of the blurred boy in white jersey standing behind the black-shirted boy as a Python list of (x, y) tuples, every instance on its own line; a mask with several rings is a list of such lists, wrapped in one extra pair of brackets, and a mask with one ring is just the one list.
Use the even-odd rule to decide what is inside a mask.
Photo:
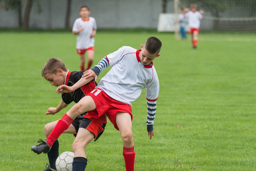
[(80, 70), (84, 71), (86, 64), (86, 56), (88, 56), (87, 69), (89, 70), (92, 62), (94, 62), (94, 36), (96, 35), (96, 21), (94, 18), (89, 17), (91, 11), (88, 6), (80, 7), (80, 18), (75, 20), (72, 32), (78, 35), (76, 38), (76, 50), (80, 55)]

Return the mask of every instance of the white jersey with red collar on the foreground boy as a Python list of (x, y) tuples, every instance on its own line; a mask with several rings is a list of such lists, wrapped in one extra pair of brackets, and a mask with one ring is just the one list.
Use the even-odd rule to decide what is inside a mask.
[[(144, 66), (139, 61), (139, 51), (123, 46), (106, 56), (111, 70), (100, 80), (97, 88), (102, 89), (113, 99), (132, 105), (147, 88), (146, 97), (149, 101), (159, 97), (159, 79), (153, 63)], [(107, 64), (107, 65), (108, 65)]]

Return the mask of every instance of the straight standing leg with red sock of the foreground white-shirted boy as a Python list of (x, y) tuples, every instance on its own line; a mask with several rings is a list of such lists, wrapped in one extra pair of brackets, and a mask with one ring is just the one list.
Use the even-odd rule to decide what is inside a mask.
[(129, 113), (117, 112), (116, 124), (124, 142), (123, 156), (126, 170), (134, 170), (135, 152), (132, 137), (132, 118)]

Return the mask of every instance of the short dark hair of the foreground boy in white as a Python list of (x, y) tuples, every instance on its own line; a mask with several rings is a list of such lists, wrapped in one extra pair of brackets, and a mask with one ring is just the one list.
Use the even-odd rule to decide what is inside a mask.
[(149, 37), (144, 43), (145, 49), (149, 52), (149, 54), (159, 54), (162, 42), (156, 37)]

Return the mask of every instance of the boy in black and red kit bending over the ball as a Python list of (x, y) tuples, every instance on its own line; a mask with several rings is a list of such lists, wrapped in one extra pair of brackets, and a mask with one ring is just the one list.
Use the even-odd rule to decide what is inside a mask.
[[(48, 82), (50, 82), (51, 86), (59, 87), (63, 84), (67, 86), (73, 86), (80, 78), (82, 78), (84, 71), (68, 71), (64, 62), (58, 58), (51, 58), (47, 60), (46, 64), (42, 69), (42, 76)], [(46, 115), (55, 115), (63, 108), (67, 107), (72, 101), (78, 103), (80, 99), (90, 93), (97, 83), (94, 79), (91, 82), (85, 84), (84, 86), (76, 89), (70, 93), (62, 93), (62, 100), (60, 101), (58, 107), (48, 108)], [(86, 146), (93, 140), (95, 141), (100, 137), (103, 133), (105, 124), (107, 123), (106, 116), (100, 117), (99, 119), (95, 119), (94, 117), (88, 117), (87, 113), (82, 113), (72, 122), (70, 127), (64, 133), (71, 133), (76, 136), (74, 143), (72, 144), (72, 149), (75, 153), (75, 158), (73, 162), (73, 170), (84, 170), (87, 165), (87, 158), (84, 149)], [(44, 133), (46, 138), (50, 135), (52, 129), (54, 129), (57, 121), (52, 123), (48, 123), (44, 127)], [(79, 131), (79, 133), (78, 133)], [(77, 135), (76, 135), (77, 134)], [(44, 141), (39, 140), (39, 143)], [(31, 150), (34, 152), (38, 152), (39, 146), (32, 146)], [(36, 150), (35, 150), (36, 149)], [(43, 151), (44, 152), (44, 151)], [(44, 152), (47, 153), (47, 152)], [(59, 156), (59, 141), (56, 140), (54, 144), (51, 146), (50, 152), (47, 153), (48, 160), (50, 165), (44, 171), (47, 170), (56, 170), (55, 161)], [(82, 167), (82, 168), (81, 168)]]

